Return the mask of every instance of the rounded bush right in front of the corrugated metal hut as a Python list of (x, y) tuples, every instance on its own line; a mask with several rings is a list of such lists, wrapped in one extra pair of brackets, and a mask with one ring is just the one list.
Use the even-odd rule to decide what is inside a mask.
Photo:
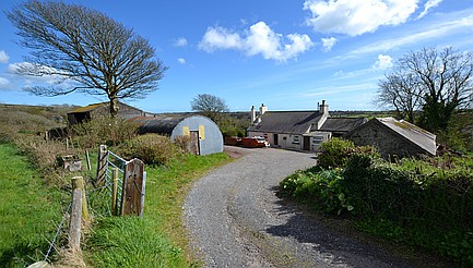
[(123, 144), (119, 154), (139, 158), (147, 165), (167, 165), (179, 156), (179, 148), (168, 137), (150, 133)]

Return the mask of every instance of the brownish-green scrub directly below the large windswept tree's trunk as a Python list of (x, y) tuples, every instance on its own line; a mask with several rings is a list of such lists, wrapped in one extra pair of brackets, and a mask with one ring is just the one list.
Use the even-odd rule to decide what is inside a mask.
[(113, 117), (97, 117), (71, 125), (72, 139), (82, 148), (95, 148), (100, 144), (119, 145), (137, 136), (137, 130), (135, 123)]

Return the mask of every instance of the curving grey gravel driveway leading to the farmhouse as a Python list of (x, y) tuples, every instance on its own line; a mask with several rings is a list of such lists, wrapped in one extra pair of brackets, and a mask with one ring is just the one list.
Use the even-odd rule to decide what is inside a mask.
[(199, 180), (185, 200), (191, 246), (205, 267), (411, 267), (275, 196), (285, 176), (315, 165), (314, 155), (238, 150), (243, 157)]

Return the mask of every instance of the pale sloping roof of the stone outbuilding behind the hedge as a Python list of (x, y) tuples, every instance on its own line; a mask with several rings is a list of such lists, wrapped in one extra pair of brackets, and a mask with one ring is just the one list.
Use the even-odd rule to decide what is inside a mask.
[(393, 118), (375, 118), (373, 120), (376, 120), (379, 123), (386, 125), (390, 130), (394, 131), (399, 135), (409, 139), (410, 142), (428, 151), (429, 154), (434, 156), (436, 155), (437, 144), (435, 142), (435, 134), (406, 121), (399, 121)]

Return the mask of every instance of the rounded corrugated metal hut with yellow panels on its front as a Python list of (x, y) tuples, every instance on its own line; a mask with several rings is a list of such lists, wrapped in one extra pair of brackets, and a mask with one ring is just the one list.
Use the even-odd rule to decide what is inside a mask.
[(190, 138), (190, 151), (204, 156), (223, 151), (223, 135), (218, 126), (209, 118), (187, 114), (156, 114), (130, 119), (140, 125), (139, 133), (156, 133), (169, 136), (174, 141), (178, 136)]

